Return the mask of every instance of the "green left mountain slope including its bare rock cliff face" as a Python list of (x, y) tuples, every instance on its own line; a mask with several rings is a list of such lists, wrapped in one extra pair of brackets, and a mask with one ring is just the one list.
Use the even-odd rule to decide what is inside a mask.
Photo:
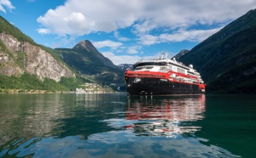
[(53, 49), (37, 44), (0, 16), (0, 93), (67, 91), (76, 86), (73, 71)]

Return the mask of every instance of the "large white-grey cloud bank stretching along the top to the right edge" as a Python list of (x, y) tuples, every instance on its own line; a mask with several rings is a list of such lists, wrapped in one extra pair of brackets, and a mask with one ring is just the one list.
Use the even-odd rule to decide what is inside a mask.
[(42, 26), (38, 31), (84, 35), (132, 26), (133, 32), (148, 34), (160, 27), (173, 30), (191, 25), (224, 23), (235, 20), (252, 8), (256, 8), (256, 1), (130, 0), (127, 3), (126, 0), (68, 0), (38, 18)]

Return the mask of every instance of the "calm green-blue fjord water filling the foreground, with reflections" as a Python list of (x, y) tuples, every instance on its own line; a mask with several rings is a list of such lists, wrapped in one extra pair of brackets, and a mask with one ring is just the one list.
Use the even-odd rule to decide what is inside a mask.
[(253, 95), (0, 94), (0, 157), (254, 157)]

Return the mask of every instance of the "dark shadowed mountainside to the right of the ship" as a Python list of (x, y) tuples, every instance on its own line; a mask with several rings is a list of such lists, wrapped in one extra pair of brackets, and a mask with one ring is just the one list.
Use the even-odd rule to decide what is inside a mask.
[(200, 71), (208, 92), (255, 93), (256, 9), (177, 59)]

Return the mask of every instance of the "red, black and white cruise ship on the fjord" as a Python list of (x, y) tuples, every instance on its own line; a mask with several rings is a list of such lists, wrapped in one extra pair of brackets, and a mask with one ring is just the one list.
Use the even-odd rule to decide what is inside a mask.
[(162, 54), (159, 59), (138, 61), (125, 71), (128, 95), (205, 93), (206, 84), (193, 65), (183, 65)]

